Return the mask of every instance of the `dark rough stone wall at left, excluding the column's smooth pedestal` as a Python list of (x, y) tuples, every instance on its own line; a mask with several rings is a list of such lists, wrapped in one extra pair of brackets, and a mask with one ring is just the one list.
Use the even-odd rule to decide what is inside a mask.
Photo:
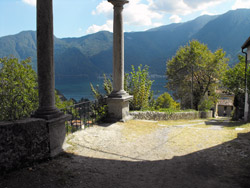
[(0, 122), (0, 173), (50, 156), (47, 123), (43, 119)]

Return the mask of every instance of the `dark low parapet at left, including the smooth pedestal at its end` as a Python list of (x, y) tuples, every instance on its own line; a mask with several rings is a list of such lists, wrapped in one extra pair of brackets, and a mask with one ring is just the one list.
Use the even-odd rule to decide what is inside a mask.
[(61, 153), (69, 115), (0, 122), (0, 174)]

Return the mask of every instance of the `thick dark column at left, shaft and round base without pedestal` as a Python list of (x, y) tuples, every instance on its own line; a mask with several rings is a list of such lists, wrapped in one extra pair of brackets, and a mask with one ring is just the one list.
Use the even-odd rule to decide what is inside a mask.
[(39, 108), (35, 117), (62, 115), (55, 107), (54, 34), (52, 0), (37, 0), (37, 73)]

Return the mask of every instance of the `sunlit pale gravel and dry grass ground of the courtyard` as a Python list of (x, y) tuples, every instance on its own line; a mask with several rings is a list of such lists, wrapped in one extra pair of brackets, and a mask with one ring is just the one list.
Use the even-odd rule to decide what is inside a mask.
[(116, 160), (164, 160), (234, 140), (250, 124), (228, 118), (143, 121), (94, 126), (68, 137), (68, 152)]

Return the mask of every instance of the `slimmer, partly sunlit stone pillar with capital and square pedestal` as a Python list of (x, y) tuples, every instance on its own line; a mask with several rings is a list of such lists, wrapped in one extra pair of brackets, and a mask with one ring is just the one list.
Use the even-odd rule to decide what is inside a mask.
[(123, 5), (127, 0), (108, 0), (114, 5), (113, 23), (113, 91), (109, 95), (108, 109), (110, 121), (126, 121), (129, 116), (129, 100), (133, 97), (124, 90), (124, 33)]

